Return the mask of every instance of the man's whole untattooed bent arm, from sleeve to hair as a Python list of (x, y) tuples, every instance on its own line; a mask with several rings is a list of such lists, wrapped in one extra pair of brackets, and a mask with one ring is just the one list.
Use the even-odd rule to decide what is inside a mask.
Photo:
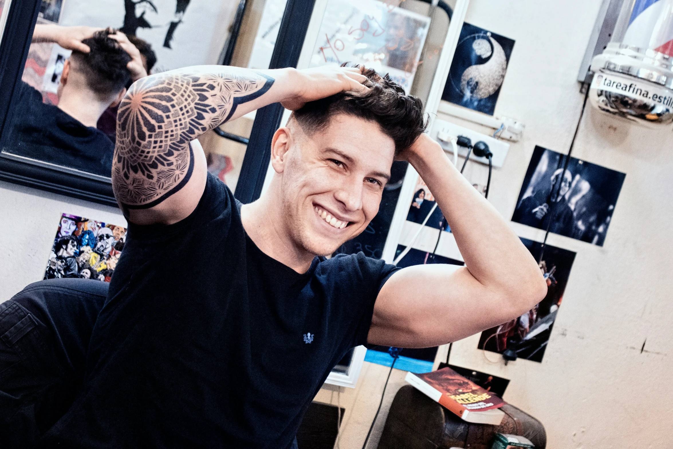
[(394, 273), (376, 299), (369, 343), (431, 347), (497, 326), (544, 298), (546, 283), (521, 240), (423, 134), (402, 153), (444, 213), (465, 267), (436, 264)]

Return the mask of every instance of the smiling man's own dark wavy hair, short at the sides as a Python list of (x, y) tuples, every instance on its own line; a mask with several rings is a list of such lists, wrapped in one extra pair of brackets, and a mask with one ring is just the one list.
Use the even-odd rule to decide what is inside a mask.
[(398, 154), (410, 147), (427, 127), (423, 103), (418, 97), (406, 95), (387, 74), (381, 76), (373, 69), (366, 69), (362, 74), (367, 77), (364, 83), (369, 88), (367, 92), (340, 92), (308, 102), (292, 112), (292, 116), (309, 135), (326, 129), (330, 118), (337, 114), (376, 122), (395, 142), (395, 154)]

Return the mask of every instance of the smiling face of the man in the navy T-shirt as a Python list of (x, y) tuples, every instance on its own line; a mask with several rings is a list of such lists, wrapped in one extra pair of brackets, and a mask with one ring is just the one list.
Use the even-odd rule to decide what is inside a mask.
[(296, 122), (289, 126), (281, 181), (285, 228), (307, 252), (332, 254), (378, 213), (394, 141), (377, 123), (345, 114), (310, 136)]

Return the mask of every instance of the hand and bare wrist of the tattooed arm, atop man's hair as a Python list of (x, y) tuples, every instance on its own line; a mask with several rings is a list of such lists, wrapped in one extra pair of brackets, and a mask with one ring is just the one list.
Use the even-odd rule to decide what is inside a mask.
[(364, 67), (330, 67), (295, 71), (292, 77), (291, 94), (281, 101), (284, 108), (297, 110), (304, 104), (346, 90), (367, 90), (364, 83), (367, 77), (362, 74)]

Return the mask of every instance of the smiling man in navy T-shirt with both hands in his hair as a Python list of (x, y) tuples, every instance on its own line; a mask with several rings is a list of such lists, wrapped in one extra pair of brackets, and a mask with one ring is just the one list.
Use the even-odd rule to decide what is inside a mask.
[[(199, 135), (281, 102), (273, 180), (241, 205)], [(429, 347), (506, 322), (546, 285), (507, 223), (423, 135), (421, 102), (353, 68), (189, 67), (135, 83), (112, 169), (127, 242), (84, 386), (43, 447), (290, 448), (357, 345)], [(327, 259), (378, 212), (395, 158), (446, 216), (466, 267)]]

